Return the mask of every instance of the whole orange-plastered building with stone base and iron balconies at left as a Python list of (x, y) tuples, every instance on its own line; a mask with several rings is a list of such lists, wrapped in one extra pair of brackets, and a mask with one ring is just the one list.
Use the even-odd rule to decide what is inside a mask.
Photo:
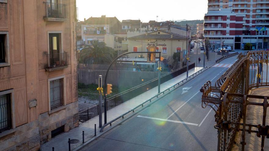
[(76, 0), (0, 0), (0, 150), (78, 126)]

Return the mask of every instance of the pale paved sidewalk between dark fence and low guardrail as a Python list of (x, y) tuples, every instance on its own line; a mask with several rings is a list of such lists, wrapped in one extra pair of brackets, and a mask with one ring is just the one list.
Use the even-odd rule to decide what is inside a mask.
[[(189, 70), (189, 75), (194, 74), (195, 72), (197, 72), (198, 70), (201, 70), (201, 67), (196, 67), (193, 68), (191, 70)], [(186, 72), (161, 84), (160, 86), (160, 91), (164, 91), (165, 89), (173, 86), (174, 84), (182, 81), (183, 79), (186, 78)], [(111, 121), (113, 119), (115, 119), (116, 117), (119, 117), (120, 115), (122, 115), (123, 113), (126, 113), (127, 111), (133, 109), (134, 107), (138, 106), (139, 104), (141, 104), (142, 102), (145, 102), (146, 100), (150, 99), (151, 97), (153, 97), (154, 95), (156, 95), (158, 92), (158, 87), (152, 88), (147, 92), (142, 93), (141, 95), (136, 96), (133, 99), (130, 99), (122, 104), (120, 104), (119, 106), (116, 106), (110, 110), (107, 111), (107, 121)], [(155, 101), (156, 99), (154, 99), (153, 101)], [(141, 110), (142, 108), (138, 108), (137, 110)], [(131, 115), (133, 115), (134, 113), (129, 113), (128, 117), (130, 117)], [(102, 115), (103, 120), (104, 121), (104, 113)], [(125, 118), (125, 117), (124, 117)], [(119, 119), (116, 120), (114, 123), (112, 123), (113, 125), (117, 125), (120, 122), (122, 122), (124, 119)], [(52, 138), (51, 141), (46, 142), (45, 144), (43, 144), (41, 146), (41, 150), (42, 151), (48, 151), (48, 150), (52, 150), (52, 147), (54, 147), (55, 151), (58, 150), (67, 150), (68, 151), (68, 138), (70, 139), (78, 139), (79, 143), (77, 144), (71, 144), (71, 150), (75, 149), (76, 147), (82, 145), (82, 131), (84, 130), (84, 139), (85, 142), (87, 142), (88, 140), (90, 140), (91, 138), (94, 137), (94, 124), (96, 124), (97, 130), (96, 130), (96, 135), (100, 135), (100, 128), (99, 126), (99, 116), (94, 117), (88, 121), (86, 121), (83, 124), (80, 124), (79, 127), (74, 128), (66, 133), (62, 133), (60, 135), (57, 135), (56, 137)], [(110, 126), (107, 126), (104, 130), (111, 128)]]

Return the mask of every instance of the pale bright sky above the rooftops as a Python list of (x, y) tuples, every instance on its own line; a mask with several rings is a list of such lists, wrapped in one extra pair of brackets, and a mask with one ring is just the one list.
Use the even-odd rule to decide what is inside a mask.
[(208, 0), (76, 0), (79, 20), (116, 16), (118, 20), (203, 20)]

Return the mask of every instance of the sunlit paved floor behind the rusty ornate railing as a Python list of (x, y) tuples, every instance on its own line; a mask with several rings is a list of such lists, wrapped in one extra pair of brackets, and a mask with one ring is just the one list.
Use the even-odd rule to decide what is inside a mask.
[[(251, 95), (262, 95), (262, 96), (268, 96), (269, 88), (255, 88), (252, 89)], [(249, 102), (259, 102), (263, 103), (263, 100), (261, 99), (249, 99)], [(267, 108), (268, 109), (268, 108)], [(269, 120), (269, 112), (267, 110), (266, 113), (266, 125), (268, 125)], [(243, 120), (241, 119), (241, 122)], [(247, 106), (247, 115), (246, 115), (246, 123), (247, 124), (262, 124), (263, 122), (263, 106), (254, 106), (254, 105), (248, 105)], [(252, 127), (252, 130), (257, 130), (256, 128)], [(261, 139), (256, 136), (256, 133), (249, 134), (248, 132), (245, 133), (245, 150), (248, 151), (257, 151), (261, 150)], [(242, 141), (242, 131), (237, 132), (235, 136), (235, 144), (232, 146), (232, 151), (241, 151), (242, 145), (240, 142)], [(269, 149), (269, 142), (268, 138), (265, 137), (264, 141), (264, 150)]]

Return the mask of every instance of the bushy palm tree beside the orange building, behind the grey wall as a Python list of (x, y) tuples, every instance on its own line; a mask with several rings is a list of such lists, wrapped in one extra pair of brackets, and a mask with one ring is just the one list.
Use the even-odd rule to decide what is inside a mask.
[(105, 45), (105, 42), (94, 40), (91, 47), (82, 50), (79, 63), (108, 64), (116, 58), (116, 54), (112, 48)]

